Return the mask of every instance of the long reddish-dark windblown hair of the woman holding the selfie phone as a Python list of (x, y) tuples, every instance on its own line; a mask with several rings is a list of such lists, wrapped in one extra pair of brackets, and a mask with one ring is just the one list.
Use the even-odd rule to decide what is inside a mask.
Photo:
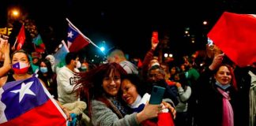
[(76, 91), (78, 92), (78, 94), (81, 93), (80, 94), (81, 97), (86, 98), (88, 103), (89, 116), (91, 116), (91, 111), (92, 111), (92, 106), (91, 106), (92, 98), (95, 98), (97, 100), (100, 100), (101, 102), (104, 102), (106, 106), (110, 105), (110, 103), (104, 97), (105, 91), (104, 91), (104, 88), (102, 87), (102, 83), (103, 83), (104, 77), (109, 76), (111, 71), (113, 71), (114, 73), (119, 72), (121, 79), (122, 79), (122, 76), (127, 74), (127, 72), (122, 68), (122, 66), (115, 62), (100, 65), (96, 69), (91, 69), (88, 72), (77, 73), (77, 76), (79, 76), (79, 80), (77, 81), (74, 89), (77, 89)]

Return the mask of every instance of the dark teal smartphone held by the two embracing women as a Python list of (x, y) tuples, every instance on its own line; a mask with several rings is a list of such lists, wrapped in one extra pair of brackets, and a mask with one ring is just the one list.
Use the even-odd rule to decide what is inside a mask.
[(164, 96), (164, 87), (159, 87), (159, 86), (153, 86), (152, 91), (151, 91), (151, 96), (149, 98), (149, 104), (152, 105), (158, 105), (162, 102), (163, 96)]

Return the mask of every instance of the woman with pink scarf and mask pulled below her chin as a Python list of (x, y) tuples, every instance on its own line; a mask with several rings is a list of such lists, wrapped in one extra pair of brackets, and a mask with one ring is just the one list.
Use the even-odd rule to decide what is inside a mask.
[(198, 79), (198, 125), (239, 125), (239, 94), (233, 69), (217, 54)]

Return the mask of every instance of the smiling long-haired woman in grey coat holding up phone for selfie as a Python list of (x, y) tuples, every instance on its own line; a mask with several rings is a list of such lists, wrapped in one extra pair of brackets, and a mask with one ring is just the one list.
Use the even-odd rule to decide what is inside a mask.
[(77, 87), (81, 88), (77, 91), (82, 91), (88, 100), (93, 125), (138, 125), (157, 117), (159, 105), (146, 105), (140, 113), (128, 114), (130, 111), (119, 95), (122, 76), (126, 75), (121, 65), (104, 64), (79, 75)]

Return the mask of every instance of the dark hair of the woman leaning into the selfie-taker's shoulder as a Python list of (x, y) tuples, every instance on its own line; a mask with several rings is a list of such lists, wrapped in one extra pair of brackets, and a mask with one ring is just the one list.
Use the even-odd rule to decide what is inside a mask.
[(141, 80), (141, 78), (136, 74), (127, 74), (125, 76), (122, 76), (122, 81), (123, 80), (130, 80), (130, 83), (134, 84), (137, 93), (141, 95), (141, 97), (145, 95), (145, 93), (148, 91), (148, 87), (145, 81)]

